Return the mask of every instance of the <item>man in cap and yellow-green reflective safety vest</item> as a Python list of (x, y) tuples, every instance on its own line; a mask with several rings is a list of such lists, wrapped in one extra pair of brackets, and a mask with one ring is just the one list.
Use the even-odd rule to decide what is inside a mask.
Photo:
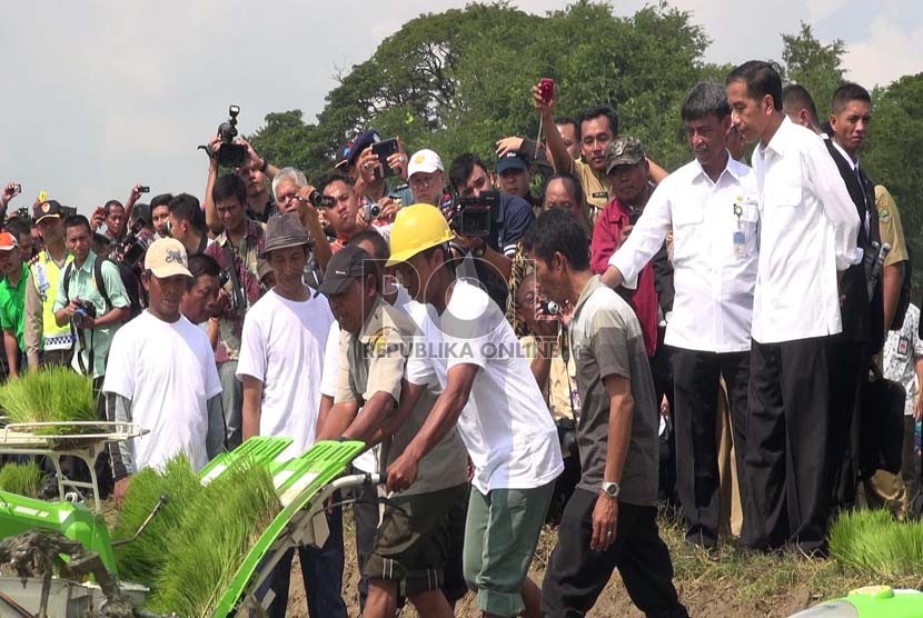
[(41, 366), (64, 366), (70, 360), (73, 333), (70, 325), (58, 326), (54, 300), (64, 267), (72, 261), (64, 242), (63, 217), (77, 209), (48, 200), (38, 208), (36, 227), (44, 240), (44, 249), (29, 265), (26, 287), (24, 343), (29, 369)]

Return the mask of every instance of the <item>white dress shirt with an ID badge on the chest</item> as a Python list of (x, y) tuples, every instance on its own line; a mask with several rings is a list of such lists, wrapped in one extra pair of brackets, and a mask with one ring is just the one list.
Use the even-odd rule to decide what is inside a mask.
[(756, 197), (756, 178), (745, 165), (728, 156), (714, 182), (693, 160), (661, 182), (628, 239), (609, 258), (609, 266), (631, 279), (673, 230), (676, 297), (666, 326), (667, 346), (750, 350), (758, 253)]

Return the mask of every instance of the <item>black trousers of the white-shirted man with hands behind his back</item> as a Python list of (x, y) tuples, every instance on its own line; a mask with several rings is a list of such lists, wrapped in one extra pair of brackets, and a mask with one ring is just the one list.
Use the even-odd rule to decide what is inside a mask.
[(754, 526), (744, 545), (825, 548), (830, 512), (830, 338), (753, 341), (744, 472)]

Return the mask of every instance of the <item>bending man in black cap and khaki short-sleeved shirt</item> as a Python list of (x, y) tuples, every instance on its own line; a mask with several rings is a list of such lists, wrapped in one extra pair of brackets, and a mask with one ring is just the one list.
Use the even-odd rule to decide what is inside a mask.
[[(385, 301), (380, 266), (365, 250), (348, 245), (334, 256), (320, 291), (346, 333), (335, 405), (320, 435), (369, 447), (380, 441), (381, 466), (388, 466), (436, 401), (435, 369), (429, 358), (409, 353), (417, 327)], [(363, 616), (393, 617), (398, 590), (421, 616), (451, 616), (440, 582), (449, 559), (449, 512), (467, 495), (465, 456), (458, 432), (450, 430), (420, 460), (414, 486), (385, 508), (371, 552), (360, 565), (369, 578)]]

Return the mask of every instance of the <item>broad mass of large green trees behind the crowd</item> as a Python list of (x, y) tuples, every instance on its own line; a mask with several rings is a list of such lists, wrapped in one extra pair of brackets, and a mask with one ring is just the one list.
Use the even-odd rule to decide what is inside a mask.
[(466, 151), (490, 161), (499, 138), (538, 133), (532, 87), (553, 77), (557, 113), (609, 103), (624, 129), (672, 168), (688, 159), (683, 96), (698, 79), (725, 72), (702, 61), (707, 44), (689, 14), (675, 9), (645, 8), (625, 19), (609, 3), (579, 0), (539, 17), (503, 2), (473, 3), (405, 23), (339, 78), (316, 124), (297, 110), (272, 113), (250, 139), (308, 178), (327, 171), (334, 149), (366, 127), (400, 136), (410, 152), (433, 148), (447, 165)]

